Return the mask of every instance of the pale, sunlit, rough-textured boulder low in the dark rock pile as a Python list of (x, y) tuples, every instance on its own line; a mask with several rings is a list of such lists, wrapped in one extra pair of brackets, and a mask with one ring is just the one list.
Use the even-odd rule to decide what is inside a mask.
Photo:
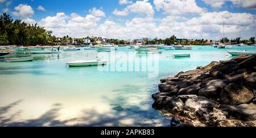
[(217, 106), (217, 102), (214, 102), (202, 96), (197, 96), (187, 99), (184, 105), (184, 110), (190, 111), (195, 115), (199, 110), (209, 114), (210, 111), (213, 111), (213, 108), (216, 108)]

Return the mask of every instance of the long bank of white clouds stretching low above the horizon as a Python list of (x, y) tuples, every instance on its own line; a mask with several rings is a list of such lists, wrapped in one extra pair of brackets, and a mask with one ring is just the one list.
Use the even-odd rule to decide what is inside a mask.
[[(63, 37), (101, 36), (111, 38), (133, 39), (142, 37), (166, 38), (175, 35), (178, 38), (218, 39), (222, 37), (223, 21), (225, 32), (229, 38), (238, 37), (238, 32), (245, 31), (243, 38), (254, 35), (256, 16), (249, 13), (205, 12), (195, 18), (185, 18), (182, 15), (167, 15), (166, 18), (154, 19), (152, 16), (126, 20), (118, 24), (107, 19), (99, 24), (101, 18), (92, 14), (65, 15), (63, 12), (48, 16), (38, 23), (53, 31), (53, 35)], [(34, 20), (26, 19), (33, 23)]]

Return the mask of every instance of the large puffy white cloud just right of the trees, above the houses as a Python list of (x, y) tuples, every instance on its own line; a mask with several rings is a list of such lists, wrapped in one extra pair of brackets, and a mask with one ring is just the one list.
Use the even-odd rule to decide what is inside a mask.
[(59, 12), (56, 16), (48, 16), (39, 21), (39, 25), (48, 30), (53, 31), (53, 34), (58, 37), (69, 35), (72, 37), (84, 37), (94, 34), (94, 28), (98, 26), (98, 18), (92, 14), (80, 16), (78, 14), (65, 15), (64, 12)]

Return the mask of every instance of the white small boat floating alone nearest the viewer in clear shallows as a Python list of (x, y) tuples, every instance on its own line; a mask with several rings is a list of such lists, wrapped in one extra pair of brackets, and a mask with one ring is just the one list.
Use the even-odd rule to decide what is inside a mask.
[(67, 62), (66, 64), (69, 67), (81, 67), (81, 66), (98, 66), (106, 63), (107, 61), (94, 60), (94, 61), (74, 61), (74, 62)]

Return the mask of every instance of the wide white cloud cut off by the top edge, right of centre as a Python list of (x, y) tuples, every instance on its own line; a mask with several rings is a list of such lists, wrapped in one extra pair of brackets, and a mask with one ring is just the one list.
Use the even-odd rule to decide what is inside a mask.
[(207, 12), (206, 8), (197, 6), (195, 0), (154, 0), (156, 10), (167, 14), (200, 14)]

